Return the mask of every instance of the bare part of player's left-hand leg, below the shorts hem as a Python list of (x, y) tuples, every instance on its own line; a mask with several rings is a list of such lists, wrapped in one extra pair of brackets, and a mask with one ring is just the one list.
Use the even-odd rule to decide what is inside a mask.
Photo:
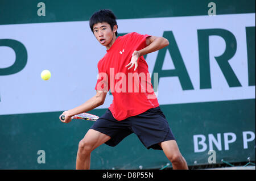
[(90, 169), (90, 153), (98, 146), (110, 140), (110, 136), (89, 129), (84, 138), (79, 142), (79, 149), (76, 157), (76, 169)]

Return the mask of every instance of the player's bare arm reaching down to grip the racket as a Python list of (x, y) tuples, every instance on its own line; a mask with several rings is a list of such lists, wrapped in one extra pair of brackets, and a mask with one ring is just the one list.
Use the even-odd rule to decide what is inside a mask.
[[(69, 123), (71, 117), (82, 112), (88, 112), (94, 108), (104, 104), (107, 92), (96, 90), (96, 95), (87, 100), (84, 104), (73, 108), (72, 110), (64, 111), (61, 115), (65, 115), (64, 123)], [(61, 120), (61, 119), (60, 119)], [(61, 120), (62, 121), (62, 120)]]

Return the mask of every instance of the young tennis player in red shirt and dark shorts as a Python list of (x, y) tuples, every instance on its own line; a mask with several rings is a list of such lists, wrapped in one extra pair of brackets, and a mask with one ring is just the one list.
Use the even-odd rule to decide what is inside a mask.
[(95, 12), (89, 24), (93, 35), (106, 47), (105, 56), (98, 62), (96, 95), (81, 106), (63, 112), (64, 123), (69, 123), (73, 115), (102, 105), (109, 89), (113, 103), (79, 142), (76, 169), (90, 169), (90, 154), (94, 149), (104, 143), (115, 146), (131, 133), (137, 134), (147, 149), (163, 150), (173, 169), (188, 169), (151, 90), (148, 66), (143, 58), (144, 54), (166, 47), (168, 40), (135, 32), (117, 37), (116, 18), (110, 10)]

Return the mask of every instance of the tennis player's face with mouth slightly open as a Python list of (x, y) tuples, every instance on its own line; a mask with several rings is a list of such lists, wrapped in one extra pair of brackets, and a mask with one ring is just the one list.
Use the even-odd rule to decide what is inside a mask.
[(104, 45), (107, 48), (109, 45), (111, 46), (113, 44), (114, 34), (116, 31), (116, 26), (111, 30), (109, 23), (106, 22), (97, 23), (93, 26), (94, 36), (101, 45)]

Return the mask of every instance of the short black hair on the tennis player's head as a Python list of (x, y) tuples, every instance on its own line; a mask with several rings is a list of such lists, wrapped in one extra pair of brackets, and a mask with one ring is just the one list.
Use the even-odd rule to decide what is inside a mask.
[[(115, 19), (117, 19), (117, 17), (115, 17), (111, 10), (98, 10), (97, 12), (94, 12), (94, 14), (90, 17), (90, 30), (93, 32), (94, 24), (106, 22), (110, 25), (111, 30), (113, 31), (114, 25), (117, 25), (117, 21)], [(115, 36), (117, 36), (117, 31), (115, 32)]]

